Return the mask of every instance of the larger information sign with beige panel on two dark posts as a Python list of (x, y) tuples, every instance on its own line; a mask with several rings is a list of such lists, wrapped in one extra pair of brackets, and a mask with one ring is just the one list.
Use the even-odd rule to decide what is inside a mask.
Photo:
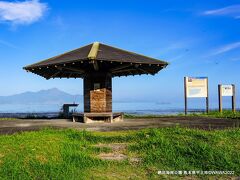
[(187, 114), (187, 98), (206, 98), (206, 112), (209, 111), (208, 78), (184, 77), (185, 114)]

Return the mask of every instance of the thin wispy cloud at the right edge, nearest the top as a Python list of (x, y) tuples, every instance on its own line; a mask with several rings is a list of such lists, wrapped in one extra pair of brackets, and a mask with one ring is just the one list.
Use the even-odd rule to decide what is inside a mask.
[(240, 18), (240, 5), (227, 6), (220, 9), (213, 9), (203, 12), (204, 15), (215, 15), (215, 16), (231, 16), (236, 19)]

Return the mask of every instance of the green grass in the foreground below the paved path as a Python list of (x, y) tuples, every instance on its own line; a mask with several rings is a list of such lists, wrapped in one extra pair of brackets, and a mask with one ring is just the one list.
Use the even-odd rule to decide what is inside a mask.
[[(101, 160), (127, 143), (138, 164)], [(0, 179), (163, 179), (158, 170), (225, 170), (240, 175), (240, 129), (204, 131), (180, 127), (125, 132), (44, 129), (0, 136)], [(195, 176), (196, 177), (196, 176)], [(200, 178), (204, 178), (200, 176)]]

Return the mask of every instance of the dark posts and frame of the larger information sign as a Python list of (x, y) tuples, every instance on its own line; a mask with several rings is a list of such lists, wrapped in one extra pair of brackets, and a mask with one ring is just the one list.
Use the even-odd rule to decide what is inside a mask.
[[(187, 115), (187, 112), (188, 112), (188, 97), (187, 97), (187, 80), (188, 80), (189, 77), (184, 77), (184, 102), (185, 102), (185, 115)], [(192, 77), (193, 78), (193, 77)], [(206, 85), (207, 85), (207, 89), (206, 89), (206, 93), (207, 93), (207, 96), (205, 97), (206, 98), (206, 113), (209, 112), (209, 93), (208, 93), (208, 77), (195, 77), (195, 78), (204, 78), (206, 79)], [(196, 97), (197, 98), (197, 97)]]

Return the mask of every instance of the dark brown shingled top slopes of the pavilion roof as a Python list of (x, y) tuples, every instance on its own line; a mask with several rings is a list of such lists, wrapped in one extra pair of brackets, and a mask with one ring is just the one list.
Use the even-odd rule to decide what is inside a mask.
[(123, 49), (108, 46), (102, 43), (92, 43), (87, 46), (66, 52), (64, 54), (46, 59), (44, 61), (26, 66), (25, 69), (49, 66), (55, 64), (71, 63), (75, 61), (89, 60), (89, 53), (94, 45), (98, 44), (97, 54), (95, 59), (102, 61), (116, 61), (116, 62), (129, 62), (129, 63), (142, 63), (142, 64), (161, 64), (168, 65), (167, 62), (140, 55), (137, 53), (129, 52)]

